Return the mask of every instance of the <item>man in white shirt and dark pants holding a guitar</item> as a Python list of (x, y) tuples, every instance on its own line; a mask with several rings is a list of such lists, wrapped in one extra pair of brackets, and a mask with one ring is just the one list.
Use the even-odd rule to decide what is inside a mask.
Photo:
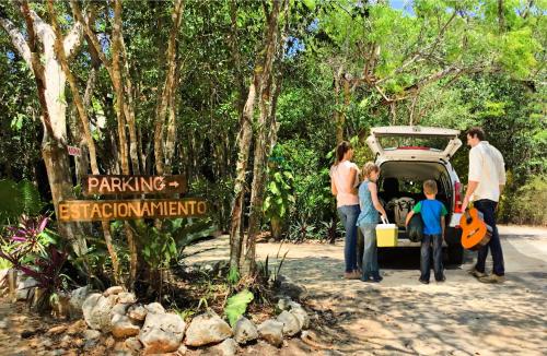
[[(484, 283), (503, 283), (504, 265), (500, 236), (496, 227), (496, 210), (503, 186), (505, 186), (505, 164), (501, 153), (487, 141), (481, 128), (472, 128), (467, 131), (469, 150), (469, 178), (467, 192), (462, 204), (465, 211), (473, 200), (474, 206), (484, 214), (487, 225), (492, 228), (490, 241), (478, 251), (477, 264), (472, 274)], [(473, 198), (473, 199), (472, 199)], [(493, 271), (491, 275), (485, 273), (488, 248), (492, 251)]]

